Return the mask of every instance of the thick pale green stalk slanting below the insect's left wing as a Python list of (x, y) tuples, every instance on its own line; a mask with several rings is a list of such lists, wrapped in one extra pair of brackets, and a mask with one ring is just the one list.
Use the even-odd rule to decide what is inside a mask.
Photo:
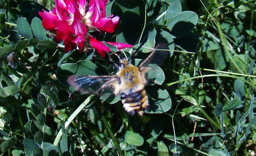
[(66, 130), (66, 128), (68, 127), (68, 125), (76, 118), (77, 114), (82, 111), (86, 105), (88, 105), (88, 103), (95, 97), (95, 95), (90, 95), (75, 111), (73, 114), (71, 114), (71, 116), (67, 119), (67, 121), (65, 122), (65, 124), (62, 126), (62, 128), (60, 129), (59, 133), (57, 134), (57, 136), (55, 137), (55, 140), (53, 142), (53, 145), (57, 146), (61, 140), (61, 137), (64, 133), (64, 131)]

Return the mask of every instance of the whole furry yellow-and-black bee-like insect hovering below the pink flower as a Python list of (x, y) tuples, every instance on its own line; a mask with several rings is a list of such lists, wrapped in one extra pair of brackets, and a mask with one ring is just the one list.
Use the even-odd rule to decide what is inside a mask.
[(148, 84), (147, 71), (151, 68), (145, 65), (153, 54), (154, 51), (138, 67), (127, 59), (120, 59), (120, 67), (115, 75), (71, 75), (67, 82), (82, 94), (99, 94), (102, 89), (111, 88), (115, 96), (120, 95), (128, 114), (142, 116), (149, 106), (145, 86)]

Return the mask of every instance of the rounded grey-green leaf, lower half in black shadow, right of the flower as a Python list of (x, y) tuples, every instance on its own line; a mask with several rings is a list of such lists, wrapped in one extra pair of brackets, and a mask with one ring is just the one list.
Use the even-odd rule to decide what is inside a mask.
[(193, 11), (183, 11), (170, 19), (166, 24), (175, 37), (181, 37), (189, 33), (196, 25), (198, 16)]

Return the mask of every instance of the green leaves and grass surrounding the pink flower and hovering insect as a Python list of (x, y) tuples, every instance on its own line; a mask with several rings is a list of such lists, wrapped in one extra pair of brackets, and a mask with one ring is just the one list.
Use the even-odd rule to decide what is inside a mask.
[[(38, 11), (53, 1), (0, 1), (1, 154), (255, 155), (255, 4), (110, 1), (108, 14), (121, 23), (105, 41), (136, 48), (148, 36), (145, 47), (168, 44), (165, 81), (147, 92), (165, 90), (171, 103), (165, 113), (140, 117), (127, 115), (115, 99), (69, 97), (65, 77), (74, 68), (114, 72), (90, 62), (94, 53), (65, 54), (46, 34)], [(135, 58), (146, 58), (145, 47)]]

